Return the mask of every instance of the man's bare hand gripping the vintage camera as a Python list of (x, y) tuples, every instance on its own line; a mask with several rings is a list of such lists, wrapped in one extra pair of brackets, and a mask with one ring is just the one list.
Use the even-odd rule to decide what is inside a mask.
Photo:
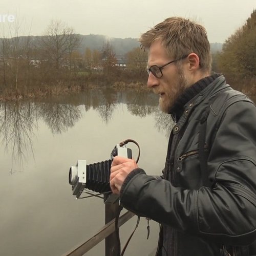
[(134, 169), (138, 168), (134, 159), (116, 156), (111, 164), (110, 187), (114, 194), (120, 194), (122, 184)]

